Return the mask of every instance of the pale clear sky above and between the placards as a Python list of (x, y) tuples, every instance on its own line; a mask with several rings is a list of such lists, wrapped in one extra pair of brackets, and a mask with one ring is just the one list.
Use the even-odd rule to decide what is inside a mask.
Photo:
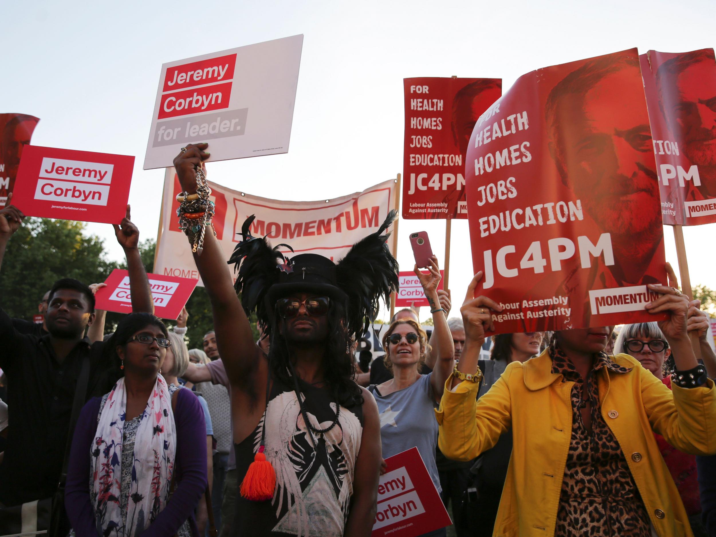
[[(0, 112), (41, 119), (35, 145), (135, 155), (130, 203), (155, 237), (163, 170), (142, 170), (160, 67), (198, 54), (304, 34), (291, 147), (213, 163), (209, 178), (287, 200), (333, 198), (402, 173), (406, 77), (501, 77), (638, 47), (714, 47), (710, 1), (25, 1), (1, 4)], [(112, 228), (89, 224), (110, 256)], [(398, 261), (412, 267), (408, 233), (427, 231), (444, 256), (444, 221), (401, 221)], [(671, 228), (667, 259), (676, 268)], [(692, 284), (716, 288), (716, 225), (684, 228)], [(472, 276), (467, 221), (453, 223), (450, 288), (460, 304)], [(457, 313), (457, 310), (455, 310)]]

